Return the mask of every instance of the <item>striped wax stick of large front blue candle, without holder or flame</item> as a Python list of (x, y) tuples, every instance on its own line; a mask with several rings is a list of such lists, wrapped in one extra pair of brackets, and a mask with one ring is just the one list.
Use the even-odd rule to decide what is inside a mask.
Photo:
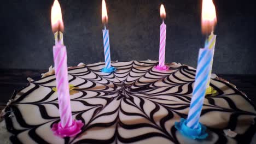
[(191, 99), (187, 118), (187, 127), (191, 129), (196, 129), (199, 125), (207, 82), (210, 79), (209, 73), (211, 70), (212, 57), (213, 49), (207, 49), (207, 47), (205, 49), (200, 49), (193, 88), (193, 97)]

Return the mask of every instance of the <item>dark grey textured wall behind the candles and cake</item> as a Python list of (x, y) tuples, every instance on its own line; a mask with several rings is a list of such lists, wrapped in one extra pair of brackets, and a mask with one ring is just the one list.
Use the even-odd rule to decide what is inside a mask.
[[(112, 61), (158, 59), (160, 4), (166, 9), (166, 62), (196, 67), (201, 0), (107, 0)], [(256, 74), (253, 1), (215, 0), (218, 24), (213, 72)], [(0, 67), (47, 69), (53, 65), (53, 0), (1, 1)], [(68, 65), (104, 61), (101, 0), (60, 0)]]

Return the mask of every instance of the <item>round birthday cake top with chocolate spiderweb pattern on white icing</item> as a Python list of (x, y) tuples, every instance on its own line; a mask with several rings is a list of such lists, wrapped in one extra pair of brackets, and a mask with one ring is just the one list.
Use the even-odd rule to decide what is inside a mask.
[[(84, 123), (74, 137), (53, 134), (60, 122), (54, 69), (30, 80), (2, 111), (13, 143), (249, 143), (256, 130), (256, 109), (234, 85), (212, 76), (216, 90), (203, 101), (200, 123), (205, 140), (191, 140), (174, 127), (187, 118), (196, 70), (188, 65), (156, 61), (113, 62), (117, 70), (102, 73), (104, 63), (69, 67), (74, 119)], [(3, 132), (2, 132), (3, 133)]]

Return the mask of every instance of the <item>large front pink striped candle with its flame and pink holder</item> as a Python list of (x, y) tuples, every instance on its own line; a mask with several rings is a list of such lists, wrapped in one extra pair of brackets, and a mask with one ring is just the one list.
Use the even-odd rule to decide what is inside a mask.
[(68, 71), (67, 71), (67, 51), (63, 45), (63, 21), (60, 4), (54, 1), (51, 8), (51, 26), (55, 36), (55, 46), (53, 47), (56, 86), (59, 101), (60, 123), (54, 124), (52, 130), (55, 135), (65, 137), (74, 136), (80, 133), (83, 127), (82, 121), (72, 120)]

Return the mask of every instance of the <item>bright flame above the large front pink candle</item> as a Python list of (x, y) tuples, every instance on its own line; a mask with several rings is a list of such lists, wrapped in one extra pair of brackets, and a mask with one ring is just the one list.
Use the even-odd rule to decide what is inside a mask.
[(54, 33), (57, 31), (64, 31), (61, 7), (57, 0), (54, 1), (53, 7), (51, 7), (51, 28), (53, 29)]

